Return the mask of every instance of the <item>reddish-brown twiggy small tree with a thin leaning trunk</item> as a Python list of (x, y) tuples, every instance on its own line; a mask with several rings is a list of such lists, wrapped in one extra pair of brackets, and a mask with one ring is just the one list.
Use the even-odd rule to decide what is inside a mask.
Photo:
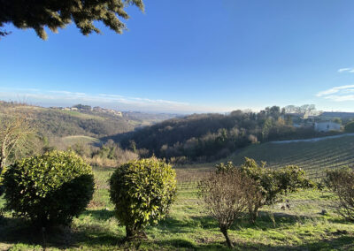
[(227, 230), (247, 209), (250, 198), (257, 195), (251, 179), (236, 169), (211, 172), (198, 184), (198, 195), (209, 214), (219, 222), (227, 246), (233, 247)]

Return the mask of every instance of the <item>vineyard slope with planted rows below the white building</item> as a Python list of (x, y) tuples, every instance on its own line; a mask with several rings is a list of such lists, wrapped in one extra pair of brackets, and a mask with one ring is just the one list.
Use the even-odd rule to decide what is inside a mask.
[(354, 135), (328, 137), (321, 141), (254, 144), (222, 161), (242, 164), (244, 156), (266, 161), (267, 166), (273, 168), (296, 164), (304, 168), (312, 178), (319, 178), (323, 175), (323, 170), (354, 166)]

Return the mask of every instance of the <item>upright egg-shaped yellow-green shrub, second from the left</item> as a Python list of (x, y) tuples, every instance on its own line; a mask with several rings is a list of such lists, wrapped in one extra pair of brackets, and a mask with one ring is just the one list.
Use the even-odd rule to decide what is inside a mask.
[(144, 228), (165, 217), (176, 195), (175, 171), (156, 158), (122, 164), (110, 179), (116, 217), (127, 240), (144, 236)]

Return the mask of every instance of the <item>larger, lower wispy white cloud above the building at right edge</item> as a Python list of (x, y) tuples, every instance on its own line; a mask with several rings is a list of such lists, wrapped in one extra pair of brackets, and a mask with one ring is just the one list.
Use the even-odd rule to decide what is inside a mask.
[(354, 85), (346, 85), (341, 87), (333, 87), (324, 91), (320, 91), (316, 96), (335, 102), (354, 101)]

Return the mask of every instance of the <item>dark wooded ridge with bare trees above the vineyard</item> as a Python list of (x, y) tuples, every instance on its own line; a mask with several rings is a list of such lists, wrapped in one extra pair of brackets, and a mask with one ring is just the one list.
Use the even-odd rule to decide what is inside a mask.
[(173, 163), (214, 161), (238, 148), (263, 141), (316, 137), (312, 127), (296, 128), (292, 115), (278, 106), (260, 112), (235, 110), (228, 115), (194, 114), (173, 118), (128, 134), (123, 148)]

